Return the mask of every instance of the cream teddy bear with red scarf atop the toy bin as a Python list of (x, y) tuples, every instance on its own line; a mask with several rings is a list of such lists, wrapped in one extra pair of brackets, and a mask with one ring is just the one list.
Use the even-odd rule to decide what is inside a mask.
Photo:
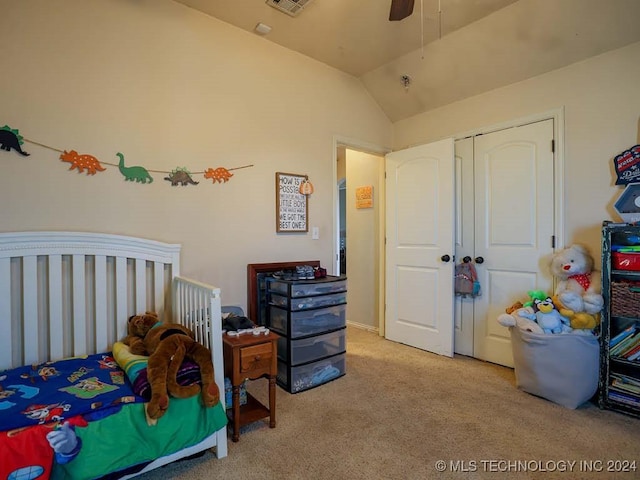
[(556, 252), (551, 273), (559, 280), (553, 297), (558, 311), (574, 329), (593, 329), (600, 323), (604, 305), (600, 273), (593, 269), (593, 258), (582, 245)]

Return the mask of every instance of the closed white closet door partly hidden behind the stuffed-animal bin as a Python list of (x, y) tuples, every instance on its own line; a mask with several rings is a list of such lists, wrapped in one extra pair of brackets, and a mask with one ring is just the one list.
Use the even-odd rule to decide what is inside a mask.
[(507, 328), (496, 321), (529, 290), (552, 291), (553, 120), (475, 138), (474, 356), (513, 366)]

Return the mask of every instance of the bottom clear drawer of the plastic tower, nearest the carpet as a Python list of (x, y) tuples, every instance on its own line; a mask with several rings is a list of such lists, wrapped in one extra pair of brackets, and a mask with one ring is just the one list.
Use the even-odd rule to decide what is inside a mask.
[(346, 353), (298, 367), (278, 361), (277, 380), (290, 393), (297, 393), (335, 380), (343, 376), (345, 371)]

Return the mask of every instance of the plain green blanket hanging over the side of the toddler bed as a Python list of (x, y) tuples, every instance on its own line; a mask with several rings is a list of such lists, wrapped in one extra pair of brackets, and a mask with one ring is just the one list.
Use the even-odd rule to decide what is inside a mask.
[(82, 449), (68, 464), (55, 465), (51, 479), (92, 479), (148, 463), (195, 445), (226, 424), (222, 405), (202, 408), (200, 396), (172, 398), (155, 426), (147, 425), (143, 404), (125, 405), (115, 415), (76, 428)]

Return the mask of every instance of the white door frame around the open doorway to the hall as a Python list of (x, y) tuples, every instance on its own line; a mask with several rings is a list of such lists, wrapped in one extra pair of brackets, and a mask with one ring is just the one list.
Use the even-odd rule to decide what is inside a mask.
[[(389, 147), (381, 147), (372, 143), (364, 142), (354, 138), (343, 137), (340, 135), (333, 136), (333, 273), (339, 270), (340, 262), (340, 205), (338, 205), (338, 147), (345, 147), (350, 150), (356, 150), (359, 152), (371, 153), (373, 155), (380, 155), (384, 157), (387, 153), (391, 152)], [(384, 158), (383, 158), (384, 161)], [(376, 194), (378, 202), (380, 203), (379, 210), (379, 245), (384, 246), (384, 232), (385, 232), (385, 209), (384, 209), (384, 169), (381, 169), (381, 179), (378, 182), (381, 191)], [(347, 227), (348, 228), (348, 227)], [(382, 248), (384, 252), (384, 248)], [(378, 259), (378, 272), (379, 279), (378, 285), (380, 285), (380, 291), (378, 292), (378, 335), (384, 337), (384, 280), (385, 280), (385, 256), (380, 255)], [(342, 272), (344, 273), (344, 272)]]

